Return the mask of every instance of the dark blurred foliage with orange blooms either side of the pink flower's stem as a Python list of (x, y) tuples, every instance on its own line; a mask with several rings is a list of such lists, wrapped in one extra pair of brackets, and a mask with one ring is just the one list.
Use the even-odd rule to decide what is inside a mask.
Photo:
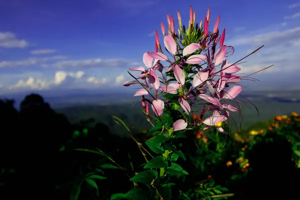
[[(128, 117), (117, 111), (122, 120)], [(107, 113), (105, 120), (115, 123)], [(145, 120), (130, 114), (138, 127), (130, 130), (144, 143), (151, 137), (149, 125), (141, 129)], [(144, 157), (130, 137), (98, 121), (82, 117), (70, 123), (38, 94), (27, 95), (18, 109), (13, 100), (0, 100), (0, 199), (122, 199), (113, 194), (130, 189), (126, 198), (136, 199), (129, 178), (142, 168)], [(185, 160), (177, 162), (189, 175), (172, 186), (172, 199), (294, 197), (300, 186), (299, 130), (300, 116), (292, 112), (227, 136), (213, 129), (186, 131)]]

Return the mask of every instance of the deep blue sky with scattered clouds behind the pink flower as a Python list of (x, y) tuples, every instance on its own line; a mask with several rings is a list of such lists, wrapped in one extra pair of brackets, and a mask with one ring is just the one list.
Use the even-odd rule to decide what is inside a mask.
[[(184, 3), (183, 3), (184, 2)], [(224, 44), (246, 74), (273, 67), (244, 82), (255, 88), (300, 85), (300, 1), (297, 0), (0, 0), (0, 91), (119, 89), (129, 67), (143, 66), (166, 14), (199, 22), (210, 7), (210, 30), (220, 14)]]

